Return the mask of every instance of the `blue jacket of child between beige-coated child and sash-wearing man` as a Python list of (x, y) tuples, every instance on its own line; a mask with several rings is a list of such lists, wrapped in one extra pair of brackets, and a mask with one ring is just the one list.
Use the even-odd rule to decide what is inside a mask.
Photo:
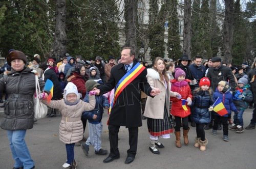
[[(108, 99), (105, 96), (95, 96), (96, 104), (95, 108), (91, 111), (83, 111), (82, 118), (88, 119), (89, 123), (98, 124), (101, 122), (103, 107), (110, 107)], [(83, 101), (89, 103), (89, 92), (86, 93), (86, 96), (83, 98)], [(93, 116), (97, 115), (97, 119), (93, 119)]]

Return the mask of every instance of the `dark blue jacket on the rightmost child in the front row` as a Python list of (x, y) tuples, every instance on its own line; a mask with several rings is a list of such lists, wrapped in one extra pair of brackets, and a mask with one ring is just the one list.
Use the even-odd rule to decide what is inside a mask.
[(249, 85), (244, 86), (242, 88), (242, 90), (243, 90), (242, 94), (244, 95), (243, 99), (235, 97), (236, 93), (239, 92), (238, 90), (236, 91), (236, 93), (234, 94), (234, 97), (233, 97), (234, 105), (239, 110), (241, 110), (241, 109), (244, 110), (244, 109), (248, 108), (249, 103), (253, 100)]

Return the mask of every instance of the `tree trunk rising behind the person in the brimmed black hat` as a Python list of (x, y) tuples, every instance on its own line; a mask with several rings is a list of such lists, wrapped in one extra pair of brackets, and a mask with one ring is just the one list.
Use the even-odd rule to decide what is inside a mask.
[(184, 0), (183, 54), (191, 58), (191, 0)]

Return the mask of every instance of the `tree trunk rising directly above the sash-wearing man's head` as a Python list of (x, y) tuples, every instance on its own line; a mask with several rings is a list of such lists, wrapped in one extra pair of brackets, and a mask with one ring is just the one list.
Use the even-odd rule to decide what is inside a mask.
[(138, 0), (125, 0), (125, 34), (126, 41), (125, 46), (130, 46), (138, 51), (137, 49), (137, 11), (138, 11)]

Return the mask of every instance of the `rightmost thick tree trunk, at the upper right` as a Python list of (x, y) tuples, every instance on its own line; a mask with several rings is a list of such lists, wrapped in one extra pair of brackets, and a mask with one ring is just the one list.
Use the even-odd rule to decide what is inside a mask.
[[(238, 0), (239, 1), (239, 0)], [(232, 63), (232, 44), (233, 44), (233, 22), (234, 22), (234, 2), (225, 0), (225, 19), (224, 19), (224, 62)]]

